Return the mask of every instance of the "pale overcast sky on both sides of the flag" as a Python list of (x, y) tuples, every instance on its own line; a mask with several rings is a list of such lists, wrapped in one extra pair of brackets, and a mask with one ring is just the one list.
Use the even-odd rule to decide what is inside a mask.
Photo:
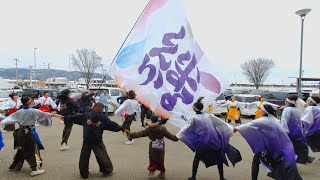
[[(0, 68), (34, 65), (69, 69), (68, 57), (91, 48), (110, 64), (147, 0), (0, 0)], [(194, 37), (230, 82), (245, 81), (240, 64), (272, 58), (267, 82), (293, 82), (299, 75), (301, 19), (304, 77), (320, 77), (319, 0), (184, 0)], [(164, 20), (165, 23), (166, 20)], [(160, 22), (159, 22), (160, 23)], [(71, 68), (71, 70), (74, 70)], [(14, 77), (13, 77), (14, 78)]]

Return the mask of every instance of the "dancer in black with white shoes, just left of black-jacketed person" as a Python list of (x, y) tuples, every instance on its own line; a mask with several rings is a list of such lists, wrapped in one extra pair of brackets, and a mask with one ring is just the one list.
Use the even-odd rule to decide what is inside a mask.
[[(64, 89), (63, 91), (61, 91), (61, 94), (57, 97), (57, 99), (60, 99), (58, 109), (59, 114), (61, 114), (62, 116), (74, 115), (75, 113), (79, 112), (78, 104), (75, 101), (73, 101), (70, 97), (71, 91), (69, 89)], [(68, 147), (67, 144), (71, 134), (72, 126), (72, 123), (64, 121), (62, 141), (60, 146), (61, 151), (70, 149), (70, 147)]]

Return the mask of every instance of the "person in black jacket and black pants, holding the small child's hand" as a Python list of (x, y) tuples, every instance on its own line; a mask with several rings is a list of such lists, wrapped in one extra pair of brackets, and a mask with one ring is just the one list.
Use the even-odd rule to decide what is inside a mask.
[(113, 171), (112, 162), (102, 141), (104, 130), (119, 132), (125, 131), (122, 126), (111, 121), (107, 114), (103, 114), (104, 105), (95, 103), (92, 112), (80, 115), (65, 116), (64, 121), (83, 126), (83, 144), (80, 154), (79, 169), (82, 178), (89, 176), (89, 159), (91, 151), (94, 152), (103, 175)]

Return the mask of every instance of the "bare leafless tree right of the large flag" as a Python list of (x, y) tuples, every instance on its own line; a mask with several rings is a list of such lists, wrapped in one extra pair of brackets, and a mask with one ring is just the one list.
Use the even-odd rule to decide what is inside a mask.
[(267, 79), (270, 70), (275, 67), (274, 61), (267, 58), (257, 58), (241, 64), (243, 74), (249, 82), (252, 82), (256, 89)]

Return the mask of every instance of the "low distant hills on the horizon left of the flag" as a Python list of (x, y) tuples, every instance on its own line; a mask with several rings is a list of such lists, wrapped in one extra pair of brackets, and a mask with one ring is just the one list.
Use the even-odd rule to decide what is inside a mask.
[[(0, 68), (0, 77), (3, 79), (16, 79), (15, 68)], [(34, 77), (34, 76), (33, 76)], [(71, 81), (77, 81), (82, 78), (79, 71), (65, 71), (57, 69), (37, 69), (37, 80), (45, 81), (48, 78), (66, 77)], [(102, 78), (102, 74), (94, 74), (94, 78)], [(18, 79), (29, 79), (29, 69), (18, 68)], [(110, 76), (106, 76), (106, 80), (111, 80)]]

